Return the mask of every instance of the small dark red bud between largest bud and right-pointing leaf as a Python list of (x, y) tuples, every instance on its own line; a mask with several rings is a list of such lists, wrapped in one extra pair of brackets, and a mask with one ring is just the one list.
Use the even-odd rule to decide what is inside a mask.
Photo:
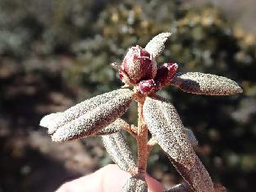
[(157, 75), (154, 79), (159, 89), (171, 83), (177, 69), (178, 65), (171, 62), (164, 63), (162, 66), (159, 66)]

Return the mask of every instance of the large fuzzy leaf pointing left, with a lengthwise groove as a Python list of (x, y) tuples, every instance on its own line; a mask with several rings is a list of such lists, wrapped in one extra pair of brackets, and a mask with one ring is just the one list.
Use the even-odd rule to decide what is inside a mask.
[[(57, 124), (52, 123), (52, 128), (57, 127), (54, 128), (53, 141), (62, 142), (94, 135), (121, 117), (132, 100), (133, 92), (130, 89), (118, 89), (114, 93), (98, 95), (71, 107), (71, 109), (57, 115), (61, 119), (57, 120)], [(49, 116), (48, 119), (50, 119)], [(41, 125), (47, 125), (44, 118)]]

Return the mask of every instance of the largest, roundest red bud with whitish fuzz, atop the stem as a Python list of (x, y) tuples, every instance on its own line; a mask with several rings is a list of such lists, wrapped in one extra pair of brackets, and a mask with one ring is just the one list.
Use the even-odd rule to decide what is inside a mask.
[(126, 73), (130, 82), (123, 78), (123, 71), (119, 71), (121, 80), (128, 85), (136, 85), (140, 80), (150, 80), (155, 77), (157, 62), (150, 53), (137, 45), (129, 49), (121, 63), (121, 69)]

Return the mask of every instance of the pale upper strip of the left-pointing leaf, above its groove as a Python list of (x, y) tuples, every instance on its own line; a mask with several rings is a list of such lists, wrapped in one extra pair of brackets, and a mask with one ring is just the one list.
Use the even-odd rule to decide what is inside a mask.
[(53, 134), (58, 127), (64, 126), (67, 122), (75, 120), (86, 112), (93, 110), (103, 103), (107, 103), (110, 99), (121, 94), (131, 94), (131, 91), (130, 89), (117, 89), (106, 94), (100, 94), (94, 98), (89, 98), (70, 107), (65, 112), (52, 113), (43, 117), (40, 121), (40, 126), (47, 127), (48, 134)]

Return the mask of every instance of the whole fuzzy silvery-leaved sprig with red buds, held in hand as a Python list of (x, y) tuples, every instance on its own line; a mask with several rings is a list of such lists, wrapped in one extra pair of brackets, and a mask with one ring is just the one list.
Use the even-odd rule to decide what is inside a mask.
[[(233, 80), (222, 76), (178, 72), (174, 62), (158, 65), (156, 58), (170, 35), (158, 34), (145, 48), (139, 45), (130, 48), (121, 65), (112, 64), (125, 84), (122, 88), (85, 100), (65, 112), (49, 114), (43, 117), (40, 125), (48, 128), (56, 142), (101, 136), (112, 160), (122, 170), (130, 172), (130, 179), (121, 191), (147, 191), (144, 175), (154, 144), (159, 144), (167, 153), (185, 180), (167, 191), (223, 191), (222, 185), (213, 184), (194, 152), (197, 140), (193, 132), (185, 129), (176, 108), (156, 92), (167, 85), (187, 93), (208, 95), (237, 94), (242, 93), (242, 89)], [(138, 103), (138, 126), (130, 126), (120, 118), (133, 101)], [(137, 161), (121, 130), (135, 137)], [(148, 131), (152, 135), (150, 139)]]

